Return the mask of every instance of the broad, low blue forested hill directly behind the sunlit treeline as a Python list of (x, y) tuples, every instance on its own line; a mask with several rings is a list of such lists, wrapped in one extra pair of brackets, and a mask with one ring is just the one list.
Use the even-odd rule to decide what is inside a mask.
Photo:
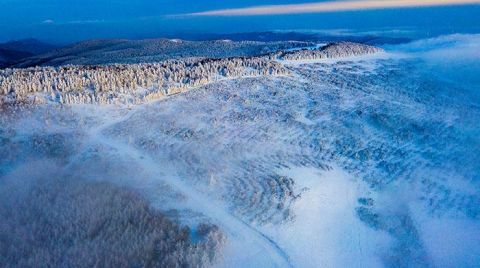
[(181, 39), (91, 40), (25, 59), (14, 67), (151, 63), (188, 57), (227, 58), (258, 56), (305, 47), (309, 42), (186, 41)]

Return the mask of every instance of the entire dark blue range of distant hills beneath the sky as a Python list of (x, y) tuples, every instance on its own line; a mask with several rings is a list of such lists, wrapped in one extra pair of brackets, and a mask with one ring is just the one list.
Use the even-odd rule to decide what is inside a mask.
[(186, 57), (241, 57), (338, 41), (368, 45), (410, 41), (406, 38), (375, 35), (328, 35), (297, 31), (190, 34), (182, 35), (182, 38), (190, 41), (166, 38), (105, 39), (83, 41), (65, 47), (57, 47), (35, 39), (12, 41), (0, 44), (0, 68), (147, 63)]

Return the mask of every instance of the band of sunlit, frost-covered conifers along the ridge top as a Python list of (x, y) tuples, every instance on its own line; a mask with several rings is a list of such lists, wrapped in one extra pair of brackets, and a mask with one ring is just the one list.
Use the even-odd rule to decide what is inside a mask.
[(290, 75), (277, 60), (332, 59), (381, 51), (373, 46), (340, 42), (254, 57), (5, 69), (0, 70), (0, 105), (141, 104), (224, 79)]

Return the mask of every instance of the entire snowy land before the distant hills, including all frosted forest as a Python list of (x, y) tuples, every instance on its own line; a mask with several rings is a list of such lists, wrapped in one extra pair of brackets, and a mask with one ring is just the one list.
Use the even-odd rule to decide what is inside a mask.
[(0, 70), (0, 266), (480, 265), (479, 35), (218, 42)]

